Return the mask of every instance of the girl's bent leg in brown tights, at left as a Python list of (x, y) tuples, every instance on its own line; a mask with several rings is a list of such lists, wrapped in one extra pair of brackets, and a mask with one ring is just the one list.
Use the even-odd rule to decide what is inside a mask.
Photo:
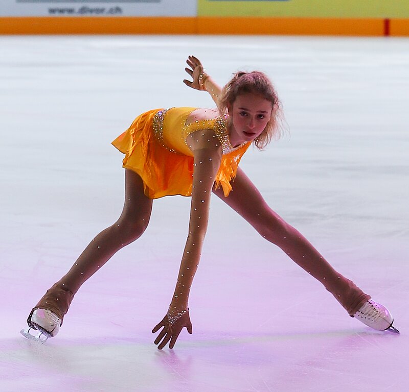
[(81, 285), (101, 268), (117, 251), (139, 238), (145, 231), (152, 210), (152, 200), (145, 196), (142, 179), (125, 171), (125, 204), (115, 224), (99, 233), (77, 261), (44, 295), (35, 309), (49, 309), (63, 318)]

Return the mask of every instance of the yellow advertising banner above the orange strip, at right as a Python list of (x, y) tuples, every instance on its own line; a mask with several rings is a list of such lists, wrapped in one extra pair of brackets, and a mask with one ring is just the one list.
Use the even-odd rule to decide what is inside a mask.
[(198, 15), (407, 18), (409, 0), (198, 0)]

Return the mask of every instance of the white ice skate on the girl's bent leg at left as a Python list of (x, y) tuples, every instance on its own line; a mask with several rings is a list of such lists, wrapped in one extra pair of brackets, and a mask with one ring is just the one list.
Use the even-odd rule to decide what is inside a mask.
[[(48, 309), (36, 309), (29, 320), (29, 328), (22, 329), (21, 335), (27, 339), (34, 339), (41, 343), (46, 342), (49, 337), (54, 337), (61, 326), (61, 318)], [(35, 334), (30, 331), (35, 331)]]

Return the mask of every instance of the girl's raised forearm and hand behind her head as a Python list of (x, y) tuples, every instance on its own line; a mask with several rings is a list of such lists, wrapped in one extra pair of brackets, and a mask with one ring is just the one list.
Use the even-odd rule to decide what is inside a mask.
[(192, 77), (193, 81), (185, 79), (183, 82), (196, 90), (206, 90), (216, 106), (218, 106), (221, 87), (206, 73), (198, 58), (189, 56), (186, 62), (190, 68), (185, 68), (185, 70)]

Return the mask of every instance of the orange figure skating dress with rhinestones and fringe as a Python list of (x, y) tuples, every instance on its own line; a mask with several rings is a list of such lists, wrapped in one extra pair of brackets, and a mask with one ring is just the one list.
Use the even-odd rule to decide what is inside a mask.
[(144, 182), (150, 199), (166, 195), (192, 195), (193, 154), (186, 138), (193, 132), (212, 129), (222, 145), (222, 159), (215, 186), (224, 196), (232, 190), (237, 167), (251, 143), (232, 147), (227, 131), (227, 116), (196, 120), (187, 124), (197, 108), (155, 109), (135, 118), (131, 126), (112, 144), (123, 154), (123, 167), (135, 171)]

